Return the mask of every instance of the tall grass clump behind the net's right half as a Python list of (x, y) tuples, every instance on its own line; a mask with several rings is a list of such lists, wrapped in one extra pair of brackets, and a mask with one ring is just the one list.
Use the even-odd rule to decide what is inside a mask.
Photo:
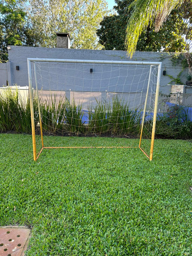
[(89, 132), (122, 136), (138, 136), (140, 129), (140, 112), (130, 110), (129, 105), (115, 96), (111, 103), (97, 101), (89, 109)]

